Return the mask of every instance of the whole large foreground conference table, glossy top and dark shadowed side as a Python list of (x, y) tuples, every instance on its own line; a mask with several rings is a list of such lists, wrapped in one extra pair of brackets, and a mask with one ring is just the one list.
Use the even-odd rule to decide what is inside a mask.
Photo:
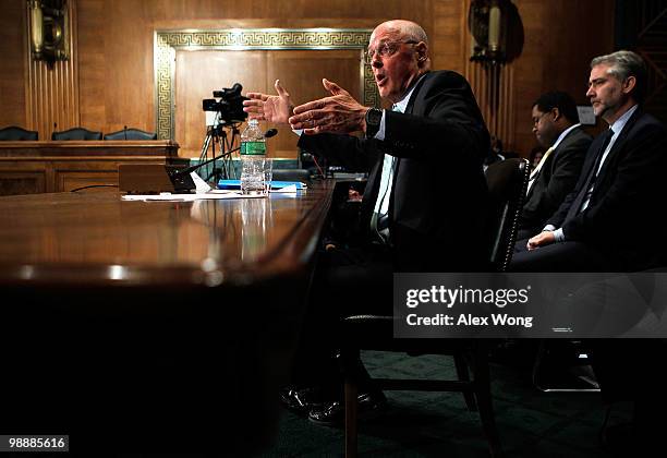
[(88, 451), (266, 447), (332, 194), (0, 197), (0, 431)]

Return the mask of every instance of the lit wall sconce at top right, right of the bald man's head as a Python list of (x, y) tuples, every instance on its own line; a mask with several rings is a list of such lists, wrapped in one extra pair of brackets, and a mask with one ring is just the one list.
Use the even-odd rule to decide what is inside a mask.
[(468, 27), (472, 34), (473, 62), (505, 63), (510, 0), (472, 0)]

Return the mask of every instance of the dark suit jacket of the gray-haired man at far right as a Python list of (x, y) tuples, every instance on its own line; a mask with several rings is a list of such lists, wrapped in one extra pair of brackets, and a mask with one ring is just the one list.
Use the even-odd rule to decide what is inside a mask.
[(638, 109), (616, 140), (595, 181), (584, 212), (566, 220), (577, 196), (585, 192), (602, 135), (591, 144), (574, 191), (547, 221), (562, 227), (566, 240), (598, 248), (617, 260), (623, 270), (653, 267), (665, 261), (665, 210), (667, 197), (667, 129)]

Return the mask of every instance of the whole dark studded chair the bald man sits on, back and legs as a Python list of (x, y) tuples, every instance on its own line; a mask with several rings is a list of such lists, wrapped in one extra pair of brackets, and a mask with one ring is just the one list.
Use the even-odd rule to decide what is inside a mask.
[[(493, 164), (486, 170), (493, 204), (489, 270), (505, 272), (511, 261), (529, 176), (527, 160), (520, 158)], [(378, 388), (389, 390), (461, 391), (469, 409), (480, 412), (492, 456), (501, 456), (492, 403), (487, 342), (484, 339), (395, 339), (393, 320), (392, 316), (377, 315), (344, 318), (345, 343), (340, 353), (343, 372), (345, 361), (357, 359), (361, 349), (407, 352), (411, 355), (453, 355), (458, 375), (456, 381), (374, 378), (373, 382)], [(355, 374), (345, 373), (348, 457), (356, 455), (357, 381), (354, 377)]]

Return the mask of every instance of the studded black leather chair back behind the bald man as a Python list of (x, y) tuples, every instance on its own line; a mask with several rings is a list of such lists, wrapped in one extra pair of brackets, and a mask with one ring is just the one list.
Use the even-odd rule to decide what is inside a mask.
[(493, 212), (490, 264), (495, 272), (506, 272), (512, 260), (530, 174), (529, 162), (522, 158), (505, 159), (486, 169)]

